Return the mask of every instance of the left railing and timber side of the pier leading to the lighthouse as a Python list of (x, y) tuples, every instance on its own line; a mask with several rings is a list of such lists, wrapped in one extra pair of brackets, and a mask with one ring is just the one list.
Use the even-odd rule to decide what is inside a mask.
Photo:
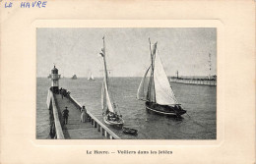
[(50, 136), (52, 138), (64, 139), (64, 134), (59, 119), (59, 111), (56, 105), (54, 94), (48, 89), (47, 107), (50, 113)]

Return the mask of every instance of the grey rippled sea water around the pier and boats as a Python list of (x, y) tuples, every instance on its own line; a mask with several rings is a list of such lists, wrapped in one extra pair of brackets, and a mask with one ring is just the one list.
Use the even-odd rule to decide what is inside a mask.
[[(136, 99), (141, 78), (111, 78), (113, 100), (118, 105), (125, 127), (138, 130), (138, 136), (128, 136), (110, 129), (121, 138), (131, 139), (215, 139), (217, 137), (217, 90), (216, 86), (193, 85), (171, 82), (173, 91), (187, 110), (182, 120), (146, 112), (145, 102)], [(60, 87), (84, 104), (98, 120), (102, 121), (100, 105), (101, 79), (61, 79)], [(50, 80), (37, 78), (36, 88), (36, 138), (49, 138), (49, 115), (46, 107)], [(103, 122), (103, 121), (102, 121)]]

